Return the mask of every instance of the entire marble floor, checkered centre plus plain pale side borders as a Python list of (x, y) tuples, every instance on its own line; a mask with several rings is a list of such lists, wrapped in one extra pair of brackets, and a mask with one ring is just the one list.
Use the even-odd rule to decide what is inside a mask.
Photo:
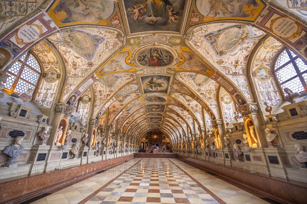
[(268, 203), (178, 159), (133, 159), (32, 203)]

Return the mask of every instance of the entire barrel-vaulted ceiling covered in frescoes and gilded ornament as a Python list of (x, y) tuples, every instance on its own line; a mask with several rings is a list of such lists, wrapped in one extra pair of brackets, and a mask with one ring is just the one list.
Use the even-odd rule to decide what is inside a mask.
[[(6, 71), (31, 48), (42, 68), (34, 101), (44, 114), (74, 98), (81, 101), (75, 120), (97, 118), (101, 132), (181, 138), (211, 129), (215, 119), (231, 124), (239, 101), (259, 98), (263, 111), (265, 102), (279, 105), (271, 62), (285, 45), (307, 54), (297, 41), (306, 33), (300, 19), (307, 7), (267, 2), (1, 1), (0, 67)], [(290, 40), (269, 31), (269, 21), (261, 24), (278, 22), (274, 5), (300, 16)], [(30, 27), (39, 35), (25, 33)]]

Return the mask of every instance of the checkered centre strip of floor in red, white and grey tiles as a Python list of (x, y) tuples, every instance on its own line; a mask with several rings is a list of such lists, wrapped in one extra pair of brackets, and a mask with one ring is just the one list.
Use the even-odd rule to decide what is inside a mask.
[(220, 203), (170, 160), (143, 159), (86, 203)]

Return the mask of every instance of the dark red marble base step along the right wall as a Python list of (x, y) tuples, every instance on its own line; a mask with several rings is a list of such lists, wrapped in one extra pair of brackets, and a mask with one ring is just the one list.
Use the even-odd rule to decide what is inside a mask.
[(307, 186), (297, 182), (288, 182), (283, 179), (269, 177), (263, 174), (252, 174), (219, 164), (212, 164), (203, 160), (196, 160), (183, 156), (178, 159), (194, 164), (216, 173), (216, 177), (230, 183), (237, 184), (242, 189), (256, 192), (281, 203), (306, 203)]

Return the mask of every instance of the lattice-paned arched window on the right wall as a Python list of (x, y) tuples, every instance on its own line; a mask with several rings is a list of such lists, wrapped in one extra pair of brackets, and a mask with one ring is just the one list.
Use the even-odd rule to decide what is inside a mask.
[[(284, 88), (289, 88), (293, 92), (300, 93), (307, 88), (307, 65), (288, 48), (279, 55), (274, 73), (282, 91)], [(285, 94), (284, 91), (283, 94)]]

